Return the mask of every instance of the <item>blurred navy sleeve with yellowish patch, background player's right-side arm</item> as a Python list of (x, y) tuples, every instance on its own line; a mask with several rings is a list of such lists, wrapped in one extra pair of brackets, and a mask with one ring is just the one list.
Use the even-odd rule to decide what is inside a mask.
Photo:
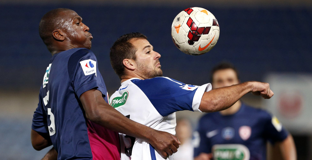
[(266, 112), (266, 116), (264, 119), (265, 122), (265, 129), (264, 133), (266, 138), (274, 144), (275, 142), (283, 141), (287, 138), (288, 132), (282, 126), (282, 124), (278, 121), (275, 116), (271, 116), (269, 113)]

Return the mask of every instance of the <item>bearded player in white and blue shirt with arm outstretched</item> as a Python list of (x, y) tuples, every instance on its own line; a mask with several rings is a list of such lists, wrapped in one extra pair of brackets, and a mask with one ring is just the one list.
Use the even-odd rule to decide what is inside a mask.
[[(110, 104), (119, 112), (156, 130), (175, 134), (175, 112), (190, 110), (215, 112), (232, 106), (241, 96), (252, 92), (271, 98), (269, 84), (245, 82), (211, 90), (210, 84), (187, 85), (162, 76), (160, 54), (146, 36), (131, 33), (121, 36), (111, 47), (110, 61), (121, 79), (121, 87)], [(155, 77), (155, 78), (154, 78)], [(209, 91), (209, 92), (207, 92)], [(144, 139), (121, 138), (122, 159), (163, 159)], [(173, 159), (169, 156), (169, 159)]]

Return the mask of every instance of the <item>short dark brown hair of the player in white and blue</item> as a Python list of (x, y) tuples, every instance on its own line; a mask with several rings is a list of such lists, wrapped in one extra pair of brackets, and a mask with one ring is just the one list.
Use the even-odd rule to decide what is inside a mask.
[(112, 65), (115, 73), (121, 79), (121, 76), (124, 75), (124, 59), (133, 59), (136, 60), (135, 52), (137, 49), (129, 42), (131, 39), (147, 39), (147, 37), (142, 33), (129, 33), (124, 34), (119, 37), (113, 46), (110, 48), (110, 64)]

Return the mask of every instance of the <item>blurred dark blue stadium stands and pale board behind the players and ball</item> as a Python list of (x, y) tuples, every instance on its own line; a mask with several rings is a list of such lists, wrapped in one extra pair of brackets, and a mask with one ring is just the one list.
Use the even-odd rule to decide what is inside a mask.
[[(51, 9), (76, 11), (90, 27), (92, 51), (109, 94), (119, 87), (109, 48), (129, 32), (145, 34), (162, 55), (164, 76), (187, 84), (209, 82), (210, 69), (233, 63), (241, 81), (271, 83), (270, 100), (246, 95), (243, 101), (268, 109), (294, 136), (298, 159), (312, 159), (312, 1), (310, 0), (1, 0), (0, 159), (40, 159), (30, 142), (32, 114), (51, 54), (38, 34), (41, 17)], [(209, 53), (189, 56), (171, 39), (174, 17), (187, 7), (203, 7), (216, 16), (220, 38)], [(188, 116), (196, 128), (202, 114)]]

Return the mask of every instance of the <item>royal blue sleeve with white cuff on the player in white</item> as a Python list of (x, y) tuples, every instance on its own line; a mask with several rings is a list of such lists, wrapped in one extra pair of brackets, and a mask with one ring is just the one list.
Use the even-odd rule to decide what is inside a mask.
[(168, 77), (155, 77), (146, 80), (131, 80), (149, 98), (163, 117), (182, 110), (198, 111), (202, 95), (211, 90), (211, 85), (187, 85)]

